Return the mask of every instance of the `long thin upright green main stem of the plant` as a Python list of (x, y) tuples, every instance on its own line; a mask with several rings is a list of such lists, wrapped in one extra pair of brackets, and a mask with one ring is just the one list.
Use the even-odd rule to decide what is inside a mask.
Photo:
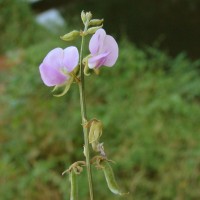
[[(85, 30), (87, 30), (87, 26), (85, 27)], [(85, 82), (84, 82), (84, 71), (83, 71), (84, 69), (83, 69), (83, 65), (82, 65), (83, 46), (84, 46), (84, 36), (82, 36), (81, 50), (80, 50), (79, 92), (80, 92), (81, 116), (82, 116), (82, 125), (83, 125), (83, 133), (84, 133), (84, 143), (85, 143), (84, 152), (85, 152), (85, 157), (86, 157), (86, 167), (87, 167), (87, 176), (88, 176), (88, 184), (89, 184), (89, 191), (90, 191), (90, 200), (93, 200), (94, 195), (93, 195), (92, 173), (91, 173), (91, 165), (90, 165), (88, 129), (85, 126), (85, 124), (87, 123), (87, 114), (86, 114), (86, 103), (85, 103)]]

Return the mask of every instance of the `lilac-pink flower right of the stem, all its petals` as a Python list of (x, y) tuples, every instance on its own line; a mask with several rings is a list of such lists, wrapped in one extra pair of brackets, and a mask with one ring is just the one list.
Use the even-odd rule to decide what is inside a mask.
[(99, 68), (102, 65), (112, 67), (118, 58), (118, 45), (115, 39), (106, 35), (104, 29), (99, 29), (92, 36), (89, 43), (91, 57), (88, 59), (90, 69)]

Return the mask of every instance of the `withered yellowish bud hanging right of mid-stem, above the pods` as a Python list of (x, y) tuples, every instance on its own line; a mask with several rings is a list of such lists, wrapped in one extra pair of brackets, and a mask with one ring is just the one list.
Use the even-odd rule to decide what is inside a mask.
[(101, 121), (94, 119), (90, 126), (89, 131), (89, 143), (93, 143), (99, 140), (102, 135), (103, 124)]

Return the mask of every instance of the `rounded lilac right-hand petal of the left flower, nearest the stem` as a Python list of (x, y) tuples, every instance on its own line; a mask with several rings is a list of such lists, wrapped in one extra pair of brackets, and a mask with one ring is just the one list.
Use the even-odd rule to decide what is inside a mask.
[(71, 46), (64, 49), (62, 67), (65, 67), (67, 72), (73, 71), (73, 69), (78, 65), (78, 61), (79, 53), (76, 47)]

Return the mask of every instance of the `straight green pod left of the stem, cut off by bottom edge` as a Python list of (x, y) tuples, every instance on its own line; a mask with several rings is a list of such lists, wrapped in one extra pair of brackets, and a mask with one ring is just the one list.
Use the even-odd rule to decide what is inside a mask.
[(77, 185), (77, 175), (72, 170), (69, 174), (69, 179), (71, 183), (71, 193), (70, 193), (70, 200), (78, 200), (78, 185)]

